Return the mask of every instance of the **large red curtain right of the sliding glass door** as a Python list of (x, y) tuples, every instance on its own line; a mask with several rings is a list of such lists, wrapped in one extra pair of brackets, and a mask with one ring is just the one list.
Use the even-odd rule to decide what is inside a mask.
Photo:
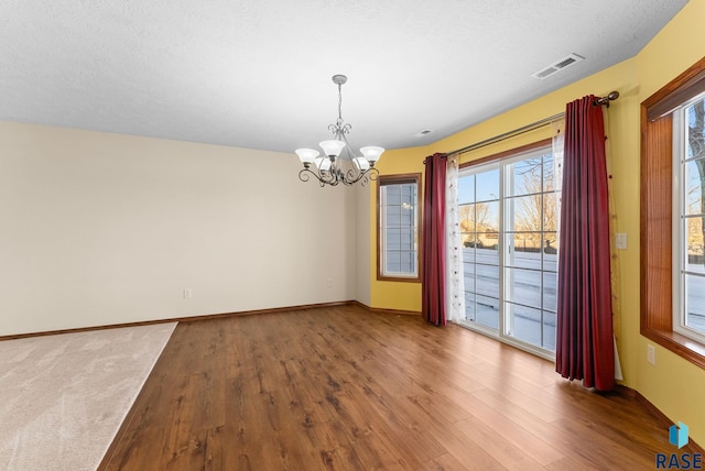
[(567, 103), (556, 371), (586, 387), (615, 386), (605, 125), (595, 97)]

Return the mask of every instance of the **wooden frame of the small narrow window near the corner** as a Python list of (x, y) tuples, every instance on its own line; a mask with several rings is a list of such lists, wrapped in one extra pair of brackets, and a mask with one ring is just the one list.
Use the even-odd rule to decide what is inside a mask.
[[(416, 274), (399, 274), (390, 275), (383, 273), (383, 228), (382, 228), (382, 187), (389, 185), (416, 185)], [(377, 178), (377, 280), (386, 282), (405, 282), (405, 283), (421, 283), (421, 249), (422, 249), (422, 234), (421, 234), (421, 221), (422, 221), (422, 194), (421, 194), (421, 173), (413, 174), (397, 174), (397, 175), (380, 175)]]

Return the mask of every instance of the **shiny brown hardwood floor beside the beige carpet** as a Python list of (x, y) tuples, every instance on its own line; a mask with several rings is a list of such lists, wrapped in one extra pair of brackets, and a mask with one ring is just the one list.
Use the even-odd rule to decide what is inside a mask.
[(673, 451), (634, 398), (340, 306), (180, 324), (99, 469), (634, 470)]

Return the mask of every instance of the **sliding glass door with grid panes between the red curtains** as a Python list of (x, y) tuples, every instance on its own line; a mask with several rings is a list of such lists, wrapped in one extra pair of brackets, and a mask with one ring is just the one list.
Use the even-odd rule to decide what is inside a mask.
[(458, 178), (460, 324), (545, 357), (555, 351), (561, 165), (542, 141)]

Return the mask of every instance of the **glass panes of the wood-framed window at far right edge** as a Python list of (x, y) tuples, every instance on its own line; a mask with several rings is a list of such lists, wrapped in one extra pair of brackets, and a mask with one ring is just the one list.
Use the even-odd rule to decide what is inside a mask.
[(673, 330), (705, 343), (705, 94), (673, 112)]

